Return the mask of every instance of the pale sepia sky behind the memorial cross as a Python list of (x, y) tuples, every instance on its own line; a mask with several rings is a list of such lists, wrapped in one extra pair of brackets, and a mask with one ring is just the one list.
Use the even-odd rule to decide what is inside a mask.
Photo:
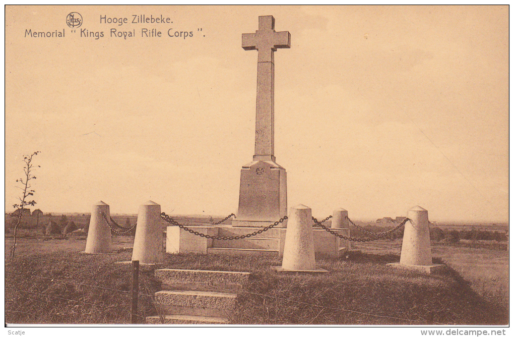
[[(83, 18), (75, 33), (70, 12)], [(132, 24), (133, 14), (173, 23)], [(148, 200), (171, 215), (236, 212), (258, 54), (241, 34), (259, 15), (291, 34), (275, 52), (288, 207), (367, 220), (419, 205), (431, 221), (508, 221), (508, 6), (9, 6), (6, 211), (22, 155), (41, 151), (32, 188), (44, 212), (89, 212), (99, 200), (112, 213)]]

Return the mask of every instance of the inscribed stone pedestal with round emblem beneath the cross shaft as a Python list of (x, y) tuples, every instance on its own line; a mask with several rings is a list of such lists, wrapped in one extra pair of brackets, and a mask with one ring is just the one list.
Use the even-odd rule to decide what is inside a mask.
[[(235, 227), (266, 227), (287, 215), (286, 170), (273, 161), (253, 161), (241, 170)], [(285, 227), (286, 221), (277, 227)]]

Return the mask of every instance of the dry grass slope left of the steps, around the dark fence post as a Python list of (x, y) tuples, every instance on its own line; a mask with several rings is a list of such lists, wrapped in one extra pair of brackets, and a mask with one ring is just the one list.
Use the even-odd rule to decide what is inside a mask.
[[(130, 252), (86, 255), (56, 252), (17, 255), (6, 262), (5, 309), (7, 323), (127, 324), (130, 323), (132, 274)], [(153, 272), (140, 275), (140, 322), (155, 314), (151, 298), (157, 291)]]

